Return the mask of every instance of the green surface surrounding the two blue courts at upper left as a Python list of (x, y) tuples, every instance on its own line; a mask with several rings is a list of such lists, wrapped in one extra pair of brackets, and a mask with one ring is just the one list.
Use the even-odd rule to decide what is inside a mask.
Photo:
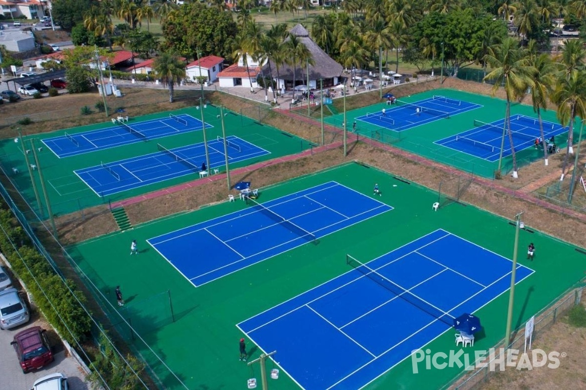
[[(189, 114), (193, 118), (201, 119), (200, 110), (195, 107), (172, 111), (175, 115)], [(206, 129), (207, 140), (216, 140), (217, 137), (222, 136), (222, 121), (219, 118), (220, 110), (215, 106), (208, 105), (205, 110), (205, 122), (213, 127)], [(227, 136), (237, 136), (241, 139), (253, 143), (255, 146), (265, 149), (270, 154), (264, 156), (249, 158), (239, 163), (230, 165), (230, 168), (238, 168), (246, 165), (258, 163), (259, 161), (270, 160), (272, 158), (287, 156), (289, 154), (299, 153), (302, 150), (309, 149), (311, 144), (291, 134), (282, 132), (274, 127), (260, 124), (253, 119), (242, 116), (239, 113), (233, 113), (224, 109), (224, 123), (226, 127)], [(132, 123), (154, 120), (154, 119), (168, 119), (169, 112), (160, 112), (151, 115), (132, 118)], [(34, 126), (34, 125), (32, 125)], [(120, 199), (131, 198), (145, 194), (147, 192), (156, 191), (157, 189), (166, 188), (171, 185), (177, 185), (184, 182), (196, 180), (199, 178), (197, 172), (184, 175), (178, 178), (165, 180), (162, 182), (145, 185), (129, 189), (128, 191), (119, 192), (110, 196), (96, 195), (88, 185), (74, 174), (74, 170), (81, 168), (93, 167), (100, 165), (101, 162), (110, 163), (113, 161), (123, 160), (126, 158), (133, 158), (144, 156), (146, 154), (156, 153), (157, 143), (161, 143), (168, 149), (175, 147), (186, 146), (190, 144), (202, 143), (203, 132), (196, 130), (192, 132), (179, 133), (171, 136), (165, 136), (157, 139), (150, 139), (147, 141), (139, 141), (136, 143), (126, 144), (122, 146), (112, 147), (110, 149), (94, 150), (88, 153), (78, 154), (77, 156), (57, 158), (57, 156), (46, 147), (41, 140), (51, 137), (63, 136), (65, 132), (68, 134), (79, 134), (97, 129), (106, 129), (113, 125), (110, 119), (104, 122), (96, 123), (90, 126), (76, 127), (73, 129), (60, 130), (52, 133), (35, 134), (34, 136), (26, 137), (24, 140), (25, 150), (30, 150), (28, 153), (29, 163), (35, 164), (32, 153), (32, 146), (30, 146), (30, 139), (35, 141), (35, 151), (38, 153), (39, 166), (42, 170), (47, 196), (50, 199), (53, 215), (59, 216), (66, 213), (79, 211), (89, 206), (99, 205), (101, 203), (108, 204), (108, 202), (118, 201)], [(0, 160), (2, 168), (11, 180), (15, 183), (17, 189), (25, 197), (26, 201), (39, 212), (38, 203), (35, 200), (34, 191), (31, 185), (30, 176), (26, 169), (25, 156), (22, 151), (22, 143), (15, 143), (14, 139), (18, 137), (18, 133), (14, 134), (11, 139), (0, 140)], [(40, 151), (39, 148), (42, 148)], [(36, 164), (35, 164), (36, 165)], [(18, 170), (18, 173), (13, 172), (13, 168)], [(220, 172), (225, 171), (225, 168), (220, 168)], [(40, 186), (39, 170), (33, 171), (36, 186), (38, 188), (40, 198), (43, 198), (43, 193)], [(43, 205), (43, 218), (47, 214), (45, 201), (41, 201)]]

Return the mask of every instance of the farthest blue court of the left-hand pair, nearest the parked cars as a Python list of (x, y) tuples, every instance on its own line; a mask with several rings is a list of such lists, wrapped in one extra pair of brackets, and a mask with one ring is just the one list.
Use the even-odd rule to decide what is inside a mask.
[[(65, 132), (62, 136), (42, 141), (57, 157), (63, 158), (203, 128), (201, 120), (188, 114), (169, 114), (168, 118), (143, 122), (124, 122), (115, 119), (113, 122), (112, 126), (104, 129), (74, 134)], [(213, 126), (206, 123), (206, 129), (211, 127)]]

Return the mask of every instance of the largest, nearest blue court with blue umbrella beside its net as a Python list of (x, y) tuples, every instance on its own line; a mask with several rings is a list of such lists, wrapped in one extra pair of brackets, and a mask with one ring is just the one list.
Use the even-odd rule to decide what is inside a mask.
[[(237, 324), (306, 390), (366, 386), (510, 287), (509, 259), (442, 229), (346, 260), (345, 274)], [(516, 282), (532, 273), (518, 265)]]

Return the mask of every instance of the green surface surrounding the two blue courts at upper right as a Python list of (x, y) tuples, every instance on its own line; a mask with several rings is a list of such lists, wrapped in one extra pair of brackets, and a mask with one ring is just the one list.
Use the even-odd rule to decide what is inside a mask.
[[(463, 171), (488, 178), (494, 177), (494, 172), (498, 168), (498, 161), (492, 163), (483, 158), (474, 157), (470, 154), (462, 153), (461, 151), (434, 144), (434, 141), (464, 132), (465, 130), (473, 129), (473, 122), (475, 119), (480, 120), (481, 122), (490, 123), (505, 118), (506, 101), (498, 98), (491, 98), (490, 96), (456, 91), (454, 89), (434, 89), (420, 94), (403, 96), (400, 100), (413, 103), (431, 98), (434, 95), (441, 95), (459, 101), (477, 103), (483, 107), (459, 113), (457, 115), (451, 115), (449, 118), (441, 118), (434, 122), (412, 127), (411, 129), (403, 130), (401, 132), (394, 132), (384, 127), (357, 121), (358, 132), (364, 136), (383, 141), (384, 143), (393, 144), (396, 147), (430, 158), (431, 160), (438, 161), (442, 164), (452, 165)], [(346, 112), (348, 127), (351, 129), (355, 118), (366, 115), (366, 113), (378, 113), (383, 108), (386, 108), (387, 115), (392, 117), (392, 109), (394, 107), (395, 106), (387, 106), (386, 101), (381, 100), (378, 104), (348, 111)], [(532, 106), (522, 105), (520, 103), (512, 103), (511, 115), (514, 114), (537, 118), (537, 114), (533, 111)], [(555, 111), (542, 111), (541, 116), (543, 120), (558, 123)], [(341, 129), (343, 127), (343, 113), (324, 118), (324, 121)], [(580, 129), (575, 129), (574, 139), (578, 139), (578, 130)], [(562, 149), (565, 146), (565, 139), (567, 139), (566, 134), (556, 137), (556, 140), (558, 140), (557, 143), (559, 143), (558, 146)], [(508, 137), (505, 140), (505, 143), (505, 145), (509, 143)], [(543, 158), (543, 151), (537, 150), (533, 147), (517, 151), (517, 165), (519, 167), (532, 163), (539, 158)], [(510, 172), (512, 168), (512, 157), (508, 156), (503, 158), (502, 172)]]

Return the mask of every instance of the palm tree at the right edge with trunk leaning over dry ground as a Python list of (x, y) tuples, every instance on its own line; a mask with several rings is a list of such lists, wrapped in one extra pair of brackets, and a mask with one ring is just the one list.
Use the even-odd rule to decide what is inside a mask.
[(572, 142), (575, 118), (586, 118), (586, 71), (574, 70), (568, 77), (558, 78), (556, 91), (551, 101), (557, 104), (557, 118), (563, 126), (568, 126), (568, 144), (561, 167), (560, 180), (564, 180), (568, 157), (573, 151)]

